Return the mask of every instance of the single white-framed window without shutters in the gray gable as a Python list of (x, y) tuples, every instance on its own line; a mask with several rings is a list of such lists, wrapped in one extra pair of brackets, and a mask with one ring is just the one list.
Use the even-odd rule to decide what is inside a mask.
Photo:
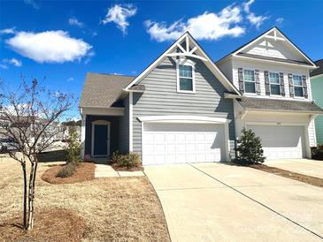
[(195, 67), (194, 64), (179, 64), (177, 78), (177, 92), (195, 93)]

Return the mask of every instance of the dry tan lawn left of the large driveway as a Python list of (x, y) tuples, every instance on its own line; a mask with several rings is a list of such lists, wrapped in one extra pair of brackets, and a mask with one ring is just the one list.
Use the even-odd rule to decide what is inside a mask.
[[(84, 219), (88, 229), (84, 241), (170, 241), (163, 210), (148, 178), (51, 185), (41, 178), (49, 167), (50, 163), (40, 163), (37, 174), (35, 226), (37, 213), (55, 208)], [(4, 226), (21, 216), (22, 176), (19, 163), (8, 159), (0, 159), (0, 170), (0, 226)]]

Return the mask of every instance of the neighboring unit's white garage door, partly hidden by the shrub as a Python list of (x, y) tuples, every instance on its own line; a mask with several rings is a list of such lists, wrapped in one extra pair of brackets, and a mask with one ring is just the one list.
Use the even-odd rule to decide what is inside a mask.
[(261, 138), (267, 159), (303, 158), (304, 127), (249, 126)]

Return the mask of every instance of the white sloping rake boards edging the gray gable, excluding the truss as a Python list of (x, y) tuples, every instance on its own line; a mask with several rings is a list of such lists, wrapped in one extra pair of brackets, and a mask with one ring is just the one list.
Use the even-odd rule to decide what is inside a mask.
[[(192, 42), (198, 50), (201, 52), (202, 56), (206, 59), (205, 64), (209, 65), (210, 71), (219, 79), (219, 81), (227, 88), (229, 91), (234, 91), (237, 95), (241, 95), (238, 89), (227, 79), (227, 77), (219, 70), (218, 66), (213, 63), (211, 58), (206, 55), (204, 50), (199, 46), (199, 44), (191, 37), (191, 35), (186, 32), (185, 34), (181, 35), (181, 37), (171, 45), (170, 48), (166, 49), (165, 52), (158, 57), (150, 66), (148, 66), (139, 76), (137, 76), (130, 84), (125, 88), (125, 91), (128, 91), (128, 89), (135, 85), (136, 82), (140, 81), (142, 78), (144, 78), (152, 69), (154, 69), (162, 60), (169, 54), (173, 49), (177, 48), (177, 44), (180, 44), (184, 38), (188, 38), (190, 42)], [(195, 56), (195, 55), (193, 55)]]

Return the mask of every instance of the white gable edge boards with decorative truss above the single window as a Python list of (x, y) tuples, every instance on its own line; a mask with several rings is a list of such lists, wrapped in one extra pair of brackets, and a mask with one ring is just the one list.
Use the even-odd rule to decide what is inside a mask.
[(200, 59), (210, 69), (210, 71), (216, 76), (224, 87), (230, 92), (235, 92), (237, 95), (241, 95), (236, 87), (226, 78), (226, 76), (219, 71), (218, 66), (214, 64), (211, 58), (205, 53), (204, 49), (196, 42), (191, 34), (186, 32), (181, 37), (165, 50), (165, 52), (159, 56), (152, 64), (150, 64), (139, 76), (137, 76), (126, 88), (138, 84), (144, 77), (146, 77), (154, 68), (160, 64), (165, 57), (192, 57)]

